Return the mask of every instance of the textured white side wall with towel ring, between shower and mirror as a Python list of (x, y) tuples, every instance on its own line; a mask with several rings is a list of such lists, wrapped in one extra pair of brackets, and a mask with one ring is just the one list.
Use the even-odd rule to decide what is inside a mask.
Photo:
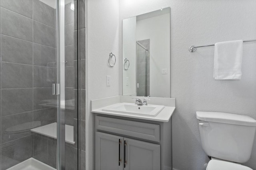
[[(90, 100), (116, 96), (122, 87), (122, 57), (119, 56), (119, 2), (118, 0), (87, 0), (86, 4), (86, 169), (93, 166), (93, 115)], [(108, 66), (108, 56), (116, 55), (116, 65)], [(111, 86), (106, 86), (106, 76)]]

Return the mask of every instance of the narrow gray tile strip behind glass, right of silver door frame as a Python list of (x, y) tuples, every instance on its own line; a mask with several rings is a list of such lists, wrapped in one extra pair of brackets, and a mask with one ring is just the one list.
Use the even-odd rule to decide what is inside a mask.
[[(70, 9), (70, 5), (65, 5), (65, 98), (66, 98), (66, 124), (74, 126), (74, 141), (75, 145), (66, 143), (65, 146), (65, 165), (66, 169), (77, 169), (78, 167), (78, 124), (77, 124), (77, 28), (75, 27), (75, 11)], [(74, 1), (76, 8), (77, 1)], [(70, 107), (70, 101), (74, 106)]]

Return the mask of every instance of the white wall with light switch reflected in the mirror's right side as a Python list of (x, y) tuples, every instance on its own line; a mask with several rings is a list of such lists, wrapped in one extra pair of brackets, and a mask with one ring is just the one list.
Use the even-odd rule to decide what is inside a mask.
[(136, 33), (150, 39), (150, 96), (170, 98), (170, 14), (137, 21)]

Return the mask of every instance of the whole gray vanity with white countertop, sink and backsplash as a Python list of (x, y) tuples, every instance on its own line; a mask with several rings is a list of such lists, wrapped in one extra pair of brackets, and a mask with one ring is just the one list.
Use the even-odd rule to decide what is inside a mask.
[[(144, 100), (145, 97), (135, 97)], [(172, 170), (174, 98), (132, 96), (91, 101), (95, 170)]]

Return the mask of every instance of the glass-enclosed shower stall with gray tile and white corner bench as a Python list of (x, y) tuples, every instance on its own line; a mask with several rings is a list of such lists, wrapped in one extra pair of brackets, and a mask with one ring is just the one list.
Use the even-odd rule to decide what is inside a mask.
[(0, 170), (85, 169), (85, 0), (0, 0)]

